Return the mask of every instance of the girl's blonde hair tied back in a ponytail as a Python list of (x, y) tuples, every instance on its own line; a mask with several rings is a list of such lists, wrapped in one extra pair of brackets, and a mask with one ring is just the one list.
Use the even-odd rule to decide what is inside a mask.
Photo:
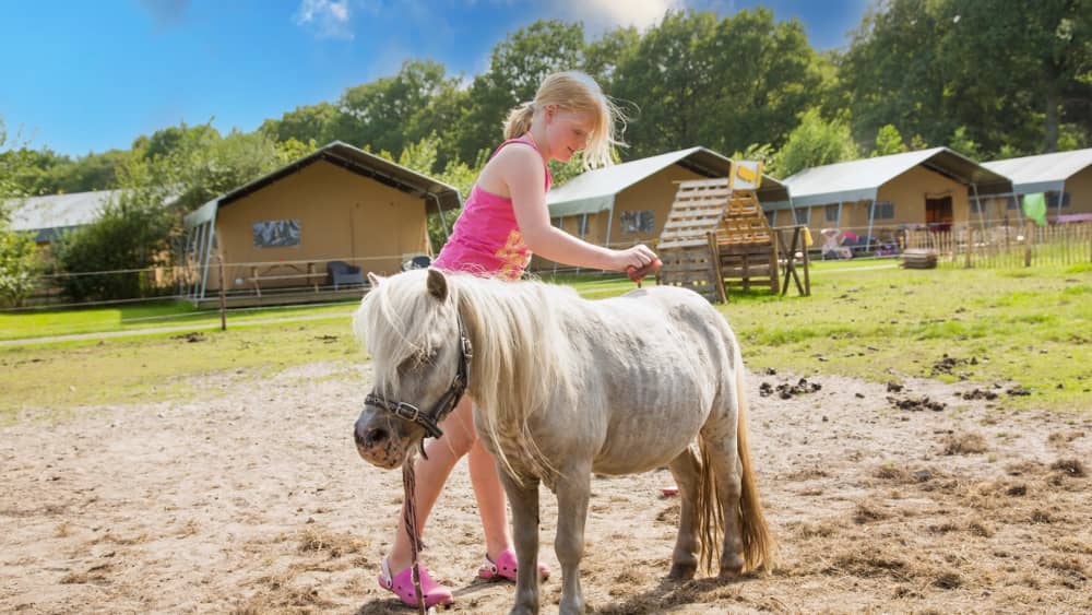
[(625, 125), (626, 118), (595, 80), (580, 71), (556, 72), (543, 80), (535, 99), (523, 103), (508, 114), (505, 120), (505, 139), (518, 139), (531, 130), (535, 113), (547, 105), (574, 113), (590, 113), (595, 118), (583, 151), (584, 168), (614, 164), (610, 150), (625, 145), (615, 135), (615, 123)]

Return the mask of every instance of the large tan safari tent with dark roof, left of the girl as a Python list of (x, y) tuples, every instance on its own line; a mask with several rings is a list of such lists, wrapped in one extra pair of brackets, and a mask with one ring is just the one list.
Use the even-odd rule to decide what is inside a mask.
[(333, 142), (186, 216), (189, 296), (329, 284), (331, 262), (391, 274), (430, 255), (426, 214), (456, 209), (459, 191)]

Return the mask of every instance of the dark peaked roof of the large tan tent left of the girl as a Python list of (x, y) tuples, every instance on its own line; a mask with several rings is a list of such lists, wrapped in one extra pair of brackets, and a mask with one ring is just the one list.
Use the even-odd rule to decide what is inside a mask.
[(454, 210), (462, 206), (462, 198), (459, 190), (431, 177), (411, 170), (402, 165), (370, 154), (354, 147), (348, 143), (334, 141), (314, 152), (286, 164), (285, 166), (268, 174), (249, 184), (240, 186), (230, 192), (221, 194), (216, 199), (205, 203), (200, 209), (186, 216), (186, 227), (192, 228), (212, 220), (216, 209), (223, 208), (237, 201), (247, 194), (257, 192), (262, 188), (281, 180), (297, 170), (313, 163), (325, 161), (337, 165), (357, 175), (375, 179), (392, 188), (396, 188), (408, 194), (426, 198), (427, 211), (438, 213), (440, 209)]

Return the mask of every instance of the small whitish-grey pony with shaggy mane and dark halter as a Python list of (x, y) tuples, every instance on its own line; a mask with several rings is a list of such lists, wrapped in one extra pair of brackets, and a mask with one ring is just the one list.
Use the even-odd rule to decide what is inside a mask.
[(538, 612), (539, 482), (557, 495), (560, 612), (583, 612), (593, 472), (670, 469), (682, 502), (670, 577), (692, 578), (699, 555), (710, 571), (719, 555), (726, 579), (772, 566), (739, 346), (705, 299), (652, 287), (591, 301), (562, 286), (435, 269), (371, 281), (354, 317), (375, 370), (357, 450), (382, 468), (402, 464), (465, 387), (512, 506), (512, 613)]

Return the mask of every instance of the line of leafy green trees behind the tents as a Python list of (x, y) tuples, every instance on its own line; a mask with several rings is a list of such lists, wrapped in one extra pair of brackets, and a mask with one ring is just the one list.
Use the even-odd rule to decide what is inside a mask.
[[(499, 42), (473, 79), (410, 59), (252, 132), (183, 123), (78, 158), (9, 143), (0, 187), (9, 196), (162, 196), (175, 203), (169, 237), (182, 213), (340, 140), (465, 194), (509, 109), (566, 69), (594, 76), (626, 113), (619, 161), (704, 145), (787, 177), (936, 145), (994, 159), (1092, 144), (1092, 0), (888, 0), (867, 11), (844, 49), (822, 52), (797, 20), (764, 8), (673, 11), (648, 29), (595, 37), (580, 23), (536, 21)], [(560, 184), (579, 164), (554, 170)]]

